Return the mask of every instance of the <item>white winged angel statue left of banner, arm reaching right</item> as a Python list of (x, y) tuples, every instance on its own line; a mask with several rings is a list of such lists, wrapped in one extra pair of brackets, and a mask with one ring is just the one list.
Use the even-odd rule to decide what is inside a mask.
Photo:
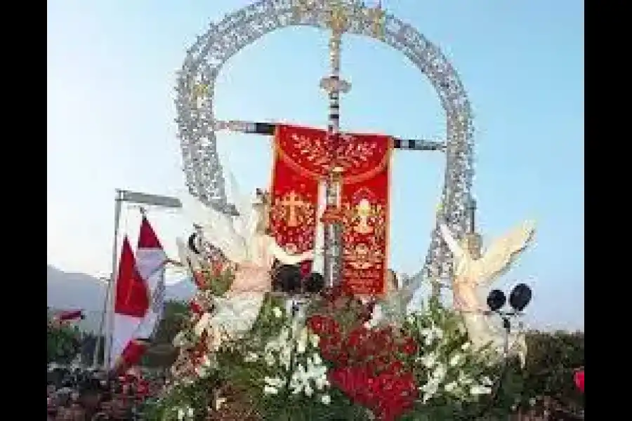
[[(236, 183), (232, 180), (232, 187)], [(198, 335), (206, 332), (211, 346), (216, 348), (220, 338), (235, 338), (250, 330), (256, 320), (265, 294), (272, 289), (270, 269), (275, 259), (284, 265), (297, 265), (312, 260), (313, 251), (299, 255), (287, 253), (268, 234), (269, 197), (257, 190), (254, 201), (244, 200), (233, 192), (239, 215), (226, 215), (204, 206), (186, 194), (181, 198), (183, 210), (204, 239), (218, 248), (235, 267), (235, 279), (223, 297), (214, 299), (214, 311), (202, 315), (195, 326)], [(249, 203), (250, 202), (250, 203)], [(196, 257), (185, 250), (179, 241), (183, 265), (194, 266)]]

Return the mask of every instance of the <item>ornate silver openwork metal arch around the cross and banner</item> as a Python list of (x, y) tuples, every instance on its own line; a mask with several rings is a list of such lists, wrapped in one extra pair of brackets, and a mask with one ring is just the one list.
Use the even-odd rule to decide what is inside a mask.
[[(213, 114), (213, 91), (220, 68), (232, 55), (275, 29), (298, 25), (327, 29), (324, 3), (324, 0), (256, 1), (226, 15), (218, 23), (211, 23), (206, 33), (198, 36), (187, 51), (176, 87), (178, 135), (187, 187), (191, 194), (209, 206), (230, 209), (216, 148), (215, 131), (219, 124)], [(461, 237), (469, 219), (468, 203), (473, 178), (470, 102), (454, 67), (439, 48), (414, 27), (386, 14), (383, 34), (376, 35), (371, 31), (371, 25), (374, 25), (371, 12), (374, 9), (363, 6), (357, 0), (340, 0), (339, 3), (348, 13), (350, 27), (347, 32), (383, 41), (402, 52), (428, 76), (445, 109), (445, 183), (440, 215), (437, 215), (424, 267), (426, 276), (440, 279), (451, 272), (452, 255), (440, 237), (438, 220), (446, 220), (452, 232)], [(310, 4), (308, 10), (305, 10), (305, 4)]]

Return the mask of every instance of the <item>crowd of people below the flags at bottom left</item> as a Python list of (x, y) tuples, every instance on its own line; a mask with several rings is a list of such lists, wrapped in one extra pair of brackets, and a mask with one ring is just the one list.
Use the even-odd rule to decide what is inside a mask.
[(112, 377), (100, 370), (49, 368), (47, 421), (140, 420), (142, 404), (164, 382), (162, 376), (140, 372)]

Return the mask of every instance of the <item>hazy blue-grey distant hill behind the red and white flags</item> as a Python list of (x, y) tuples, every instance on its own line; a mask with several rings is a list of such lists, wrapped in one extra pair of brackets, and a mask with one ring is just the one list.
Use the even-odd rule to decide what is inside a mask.
[[(84, 309), (86, 319), (79, 324), (81, 330), (98, 330), (106, 288), (107, 283), (94, 276), (46, 266), (46, 305), (53, 309)], [(195, 286), (182, 281), (166, 287), (166, 300), (187, 300), (193, 293)]]

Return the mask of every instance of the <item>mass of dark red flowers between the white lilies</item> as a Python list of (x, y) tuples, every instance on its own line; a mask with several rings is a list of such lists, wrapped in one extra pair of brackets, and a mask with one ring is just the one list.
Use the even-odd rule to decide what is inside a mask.
[(365, 326), (373, 305), (344, 288), (331, 288), (312, 308), (308, 326), (320, 337), (322, 358), (331, 363), (331, 385), (378, 420), (393, 421), (417, 399), (414, 375), (400, 358), (416, 354), (418, 347), (393, 328)]

